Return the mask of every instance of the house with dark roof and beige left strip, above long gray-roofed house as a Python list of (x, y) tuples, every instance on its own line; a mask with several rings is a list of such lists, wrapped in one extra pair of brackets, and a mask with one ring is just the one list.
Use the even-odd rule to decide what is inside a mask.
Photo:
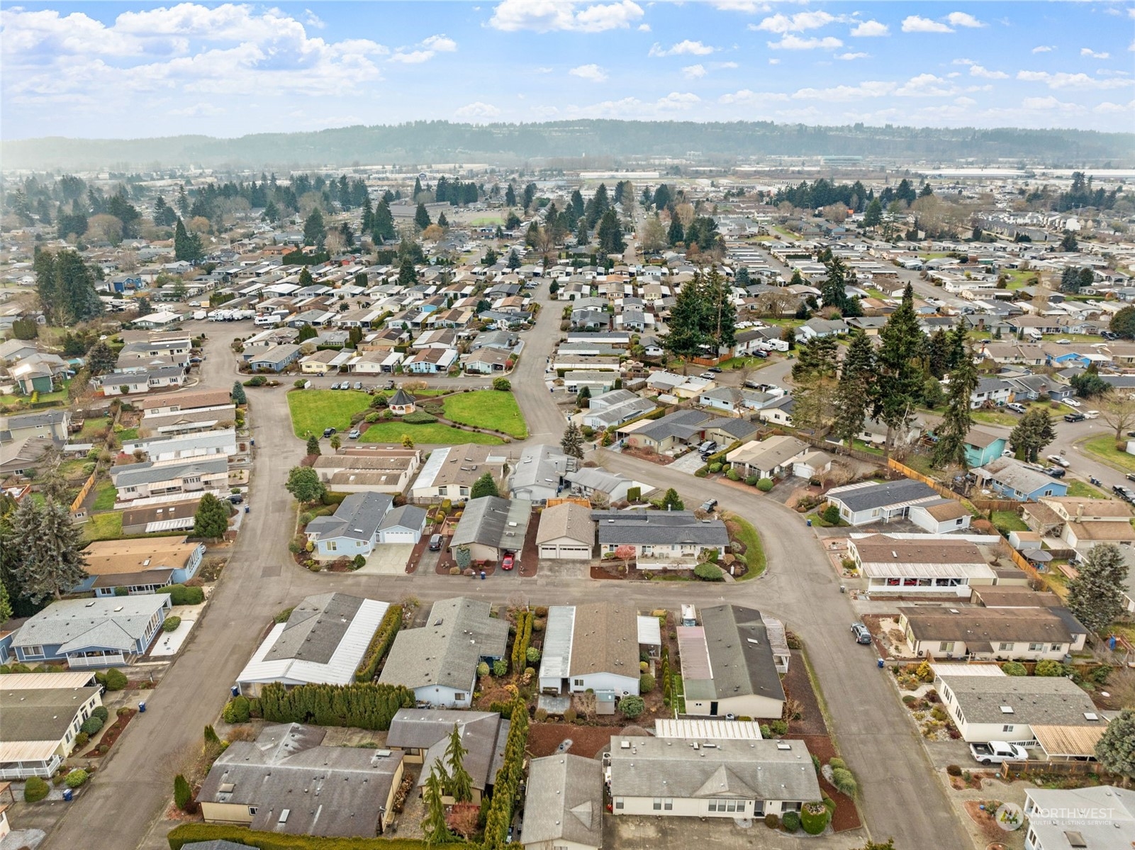
[(686, 713), (780, 719), (784, 688), (759, 611), (699, 609), (700, 625), (678, 626)]

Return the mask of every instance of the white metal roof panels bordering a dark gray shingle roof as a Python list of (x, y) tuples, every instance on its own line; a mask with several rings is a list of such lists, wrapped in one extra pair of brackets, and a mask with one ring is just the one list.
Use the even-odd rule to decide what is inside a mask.
[(257, 648), (236, 681), (284, 682), (285, 684), (350, 684), (354, 681), (355, 670), (367, 653), (370, 639), (375, 637), (375, 632), (389, 607), (389, 603), (363, 599), (327, 664), (294, 658), (264, 660), (264, 656), (268, 655), (286, 625), (286, 623), (277, 623), (264, 638), (264, 642)]

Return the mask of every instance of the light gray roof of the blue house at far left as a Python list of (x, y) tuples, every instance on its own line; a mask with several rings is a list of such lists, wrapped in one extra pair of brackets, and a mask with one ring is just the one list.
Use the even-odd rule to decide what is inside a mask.
[(61, 599), (30, 617), (12, 646), (59, 646), (61, 653), (87, 647), (133, 650), (153, 615), (169, 606), (169, 594)]

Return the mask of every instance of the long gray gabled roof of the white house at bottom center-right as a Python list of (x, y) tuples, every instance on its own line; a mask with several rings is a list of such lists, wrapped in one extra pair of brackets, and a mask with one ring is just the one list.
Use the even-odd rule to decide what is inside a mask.
[[(631, 746), (622, 747), (623, 740)], [(728, 740), (716, 747), (674, 738), (611, 738), (611, 793), (615, 797), (819, 799), (819, 783), (804, 741)], [(788, 744), (788, 749), (782, 749)]]

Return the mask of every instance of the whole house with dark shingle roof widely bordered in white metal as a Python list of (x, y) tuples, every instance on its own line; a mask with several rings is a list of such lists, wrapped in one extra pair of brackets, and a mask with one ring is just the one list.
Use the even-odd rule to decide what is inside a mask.
[(259, 697), (269, 682), (350, 684), (389, 604), (347, 594), (318, 594), (276, 623), (236, 683), (246, 697)]

